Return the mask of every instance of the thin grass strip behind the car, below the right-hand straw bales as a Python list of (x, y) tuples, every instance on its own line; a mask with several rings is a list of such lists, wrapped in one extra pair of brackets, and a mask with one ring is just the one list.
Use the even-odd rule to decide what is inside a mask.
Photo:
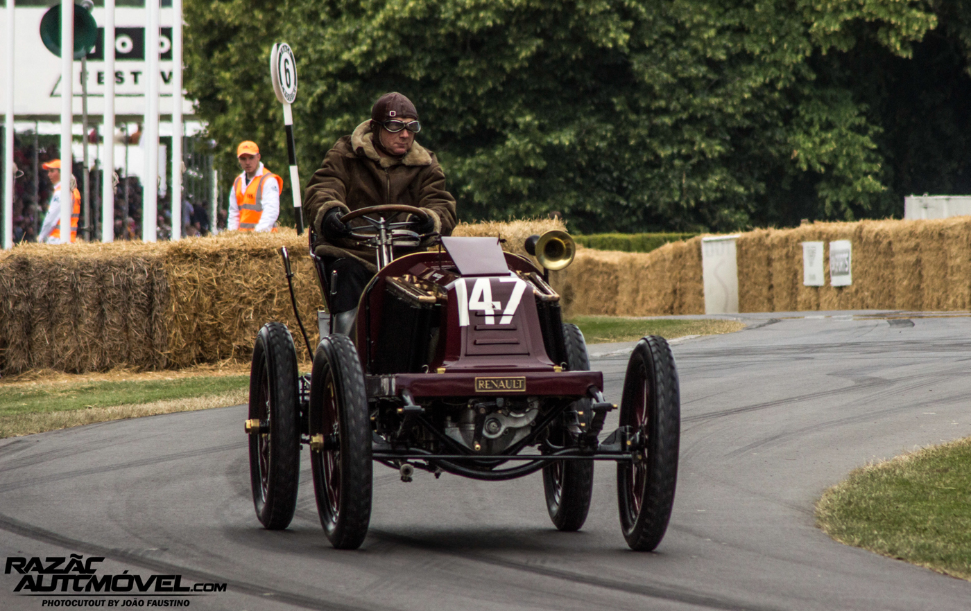
[(644, 336), (665, 339), (685, 336), (711, 336), (745, 329), (737, 320), (671, 320), (620, 318), (618, 316), (576, 316), (571, 322), (584, 332), (586, 343), (634, 341)]

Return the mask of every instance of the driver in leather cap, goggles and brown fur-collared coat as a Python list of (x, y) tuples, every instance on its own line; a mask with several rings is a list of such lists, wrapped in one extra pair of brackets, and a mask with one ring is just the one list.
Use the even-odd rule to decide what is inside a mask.
[[(415, 142), (420, 129), (412, 101), (397, 92), (385, 93), (372, 107), (371, 119), (327, 151), (304, 192), (307, 214), (318, 234), (315, 252), (331, 284), (330, 309), (339, 333), (351, 331), (357, 301), (377, 272), (374, 251), (350, 238), (352, 228), (367, 226), (367, 221), (345, 224), (342, 216), (371, 206), (403, 204), (428, 212), (427, 220), (412, 217), (412, 230), (452, 234), (455, 199), (445, 188), (445, 173), (435, 153)], [(409, 216), (399, 213), (387, 220), (405, 221)]]

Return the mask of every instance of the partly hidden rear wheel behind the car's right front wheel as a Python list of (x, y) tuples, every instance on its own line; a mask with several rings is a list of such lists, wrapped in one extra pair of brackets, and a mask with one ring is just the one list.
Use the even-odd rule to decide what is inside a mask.
[[(566, 346), (568, 369), (589, 370), (586, 341), (580, 328), (564, 324), (563, 343)], [(590, 400), (574, 402), (564, 414), (564, 419), (552, 425), (550, 441), (561, 446), (575, 445), (579, 432), (577, 425), (585, 422), (589, 426), (590, 421)], [(586, 522), (593, 495), (593, 461), (558, 461), (543, 467), (543, 490), (553, 525), (560, 531), (579, 531)]]

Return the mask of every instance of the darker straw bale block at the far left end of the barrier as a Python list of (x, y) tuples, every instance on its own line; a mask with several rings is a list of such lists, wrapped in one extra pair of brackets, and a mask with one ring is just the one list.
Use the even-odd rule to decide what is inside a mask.
[(24, 244), (0, 259), (0, 369), (164, 367), (167, 301), (151, 245)]

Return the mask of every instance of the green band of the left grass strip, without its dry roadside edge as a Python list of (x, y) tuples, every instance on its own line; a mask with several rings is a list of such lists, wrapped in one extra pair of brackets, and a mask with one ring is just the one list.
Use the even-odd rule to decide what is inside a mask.
[(247, 388), (249, 384), (247, 375), (214, 375), (172, 380), (0, 385), (0, 416), (190, 399), (221, 395)]

